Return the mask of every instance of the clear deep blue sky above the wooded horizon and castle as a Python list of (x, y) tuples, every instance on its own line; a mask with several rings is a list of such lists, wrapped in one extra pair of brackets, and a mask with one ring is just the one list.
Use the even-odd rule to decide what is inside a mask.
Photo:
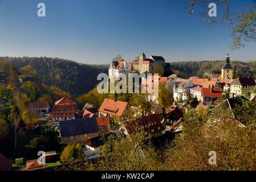
[[(46, 17), (37, 5), (46, 5)], [(253, 0), (231, 1), (231, 10)], [(86, 64), (145, 52), (166, 61), (256, 60), (256, 42), (230, 51), (227, 24), (206, 26), (186, 0), (0, 0), (0, 56), (60, 57)], [(217, 9), (218, 15), (218, 9)]]

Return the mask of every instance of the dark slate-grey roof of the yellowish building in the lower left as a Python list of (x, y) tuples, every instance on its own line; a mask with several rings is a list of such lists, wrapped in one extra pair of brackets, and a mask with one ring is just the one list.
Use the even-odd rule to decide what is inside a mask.
[(99, 132), (96, 117), (60, 121), (59, 124), (61, 137)]

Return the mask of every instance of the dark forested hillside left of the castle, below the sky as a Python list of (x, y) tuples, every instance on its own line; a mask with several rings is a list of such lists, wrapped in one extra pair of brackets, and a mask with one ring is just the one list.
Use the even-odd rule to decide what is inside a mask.
[(108, 73), (106, 65), (80, 64), (59, 58), (0, 57), (0, 60), (9, 61), (17, 69), (30, 65), (43, 84), (56, 86), (74, 97), (92, 90), (99, 73)]

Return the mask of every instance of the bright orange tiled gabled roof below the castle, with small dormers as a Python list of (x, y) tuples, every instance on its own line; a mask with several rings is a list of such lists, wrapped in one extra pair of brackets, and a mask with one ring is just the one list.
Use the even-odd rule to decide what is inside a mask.
[(127, 105), (128, 105), (128, 102), (123, 102), (123, 101), (115, 102), (114, 100), (105, 98), (103, 103), (100, 106), (99, 112), (121, 117)]

